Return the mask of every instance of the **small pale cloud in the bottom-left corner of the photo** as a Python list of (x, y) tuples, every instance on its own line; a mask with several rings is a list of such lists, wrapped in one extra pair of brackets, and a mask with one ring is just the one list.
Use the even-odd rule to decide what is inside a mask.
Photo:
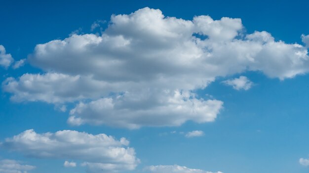
[(0, 173), (27, 173), (35, 168), (35, 166), (23, 165), (16, 160), (0, 160)]

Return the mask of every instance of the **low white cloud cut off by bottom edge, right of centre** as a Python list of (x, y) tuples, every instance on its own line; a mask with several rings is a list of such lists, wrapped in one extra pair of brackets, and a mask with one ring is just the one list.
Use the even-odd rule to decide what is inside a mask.
[[(183, 166), (178, 165), (157, 165), (150, 166), (145, 169), (145, 171), (150, 173), (213, 173), (209, 171), (203, 171), (199, 169), (190, 169)], [(220, 171), (216, 173), (222, 173)]]

